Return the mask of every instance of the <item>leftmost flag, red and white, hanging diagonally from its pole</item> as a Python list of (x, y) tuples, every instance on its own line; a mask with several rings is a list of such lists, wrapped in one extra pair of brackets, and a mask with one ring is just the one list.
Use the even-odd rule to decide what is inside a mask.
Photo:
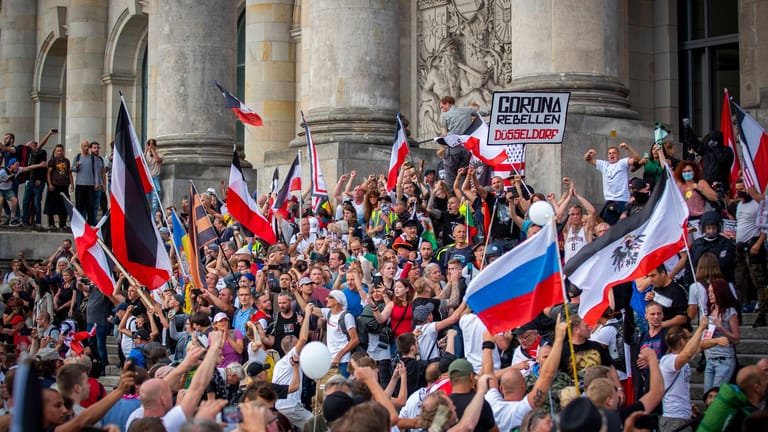
[(109, 258), (96, 240), (96, 230), (85, 222), (83, 215), (72, 207), (72, 203), (64, 200), (64, 206), (70, 215), (70, 226), (75, 237), (75, 250), (80, 266), (104, 295), (111, 296), (115, 293), (115, 279), (112, 277)]

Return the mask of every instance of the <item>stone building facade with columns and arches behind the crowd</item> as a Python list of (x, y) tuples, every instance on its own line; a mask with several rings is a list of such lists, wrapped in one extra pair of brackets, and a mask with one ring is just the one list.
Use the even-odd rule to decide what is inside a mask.
[[(265, 190), (304, 146), (302, 111), (334, 179), (385, 170), (398, 111), (424, 141), (443, 95), (490, 108), (495, 90), (570, 91), (564, 143), (530, 146), (527, 174), (548, 191), (583, 179), (599, 201), (588, 148), (642, 152), (654, 121), (681, 117), (703, 134), (723, 87), (768, 123), (767, 18), (768, 0), (4, 0), (0, 130), (57, 127), (73, 156), (112, 139), (122, 90), (177, 202), (188, 178), (226, 178), (233, 145)], [(213, 80), (264, 126), (238, 126)]]

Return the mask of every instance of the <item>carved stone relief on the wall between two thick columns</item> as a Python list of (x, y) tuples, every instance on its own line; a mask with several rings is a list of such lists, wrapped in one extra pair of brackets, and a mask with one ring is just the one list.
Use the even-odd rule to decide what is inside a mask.
[(439, 134), (441, 97), (490, 110), (494, 90), (512, 82), (511, 1), (419, 0), (419, 139)]

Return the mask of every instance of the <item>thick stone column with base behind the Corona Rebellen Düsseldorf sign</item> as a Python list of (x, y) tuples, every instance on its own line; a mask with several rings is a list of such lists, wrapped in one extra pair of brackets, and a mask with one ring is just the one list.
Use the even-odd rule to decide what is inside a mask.
[(526, 174), (536, 190), (559, 192), (560, 178), (570, 176), (599, 203), (600, 175), (582, 160), (587, 149), (602, 159), (622, 141), (645, 151), (650, 126), (636, 121), (628, 97), (627, 9), (626, 0), (512, 0), (513, 79), (505, 90), (571, 92), (563, 144), (528, 146)]

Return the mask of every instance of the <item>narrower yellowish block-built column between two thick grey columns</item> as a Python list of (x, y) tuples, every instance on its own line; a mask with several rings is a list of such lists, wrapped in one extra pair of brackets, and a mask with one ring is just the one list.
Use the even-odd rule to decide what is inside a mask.
[[(245, 153), (262, 164), (264, 153), (295, 136), (296, 50), (291, 40), (294, 0), (248, 0), (245, 6), (245, 99), (264, 126), (246, 126)], [(234, 91), (234, 89), (232, 89)]]

